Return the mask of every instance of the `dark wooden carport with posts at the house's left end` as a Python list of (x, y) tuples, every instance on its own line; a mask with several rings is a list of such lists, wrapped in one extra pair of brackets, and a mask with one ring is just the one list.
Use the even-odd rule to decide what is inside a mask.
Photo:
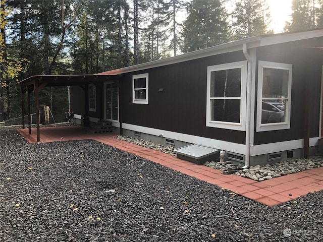
[(113, 81), (119, 86), (118, 75), (43, 75), (31, 76), (19, 82), (21, 85), (22, 126), (25, 129), (26, 108), (24, 104), (25, 93), (27, 94), (28, 134), (31, 135), (31, 112), (30, 94), (34, 92), (36, 108), (37, 142), (40, 141), (40, 118), (39, 118), (39, 93), (44, 87), (54, 86), (80, 86), (87, 96), (89, 84), (97, 84), (104, 81)]

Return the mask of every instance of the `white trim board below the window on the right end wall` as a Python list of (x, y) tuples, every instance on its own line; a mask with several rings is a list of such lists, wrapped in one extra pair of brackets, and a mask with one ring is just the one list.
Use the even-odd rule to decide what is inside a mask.
[[(316, 146), (318, 144), (319, 137), (309, 139), (309, 146)], [(294, 150), (304, 148), (304, 140), (290, 140), (277, 143), (254, 145), (250, 147), (250, 156), (270, 154), (285, 150)]]

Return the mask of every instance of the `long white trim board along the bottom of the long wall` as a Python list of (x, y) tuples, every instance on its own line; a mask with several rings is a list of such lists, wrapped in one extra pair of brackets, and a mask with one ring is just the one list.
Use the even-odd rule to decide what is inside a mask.
[(153, 128), (148, 128), (143, 126), (124, 124), (124, 123), (122, 124), (122, 128), (125, 130), (132, 130), (132, 131), (137, 131), (137, 132), (141, 132), (149, 135), (155, 135), (155, 136), (159, 136), (163, 134), (164, 137), (167, 137), (170, 139), (179, 140), (179, 141), (183, 141), (191, 144), (212, 147), (212, 148), (230, 151), (230, 152), (234, 152), (242, 155), (245, 155), (245, 150), (246, 150), (245, 145), (243, 144), (237, 144), (237, 143), (232, 143), (232, 142), (227, 142), (222, 140), (214, 140), (214, 139), (209, 139), (205, 137), (182, 134), (182, 133), (177, 133), (177, 132), (172, 132), (167, 130), (159, 130), (159, 129), (153, 129)]

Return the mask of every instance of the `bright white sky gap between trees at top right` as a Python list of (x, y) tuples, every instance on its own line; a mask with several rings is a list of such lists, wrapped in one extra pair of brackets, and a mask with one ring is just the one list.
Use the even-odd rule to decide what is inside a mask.
[(272, 17), (270, 28), (275, 33), (283, 32), (285, 22), (290, 20), (292, 14), (292, 0), (267, 0), (267, 3)]

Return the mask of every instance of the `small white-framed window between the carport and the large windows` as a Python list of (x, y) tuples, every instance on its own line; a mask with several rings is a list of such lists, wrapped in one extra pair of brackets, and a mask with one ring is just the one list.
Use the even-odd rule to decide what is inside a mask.
[(148, 73), (132, 76), (132, 103), (148, 104)]

